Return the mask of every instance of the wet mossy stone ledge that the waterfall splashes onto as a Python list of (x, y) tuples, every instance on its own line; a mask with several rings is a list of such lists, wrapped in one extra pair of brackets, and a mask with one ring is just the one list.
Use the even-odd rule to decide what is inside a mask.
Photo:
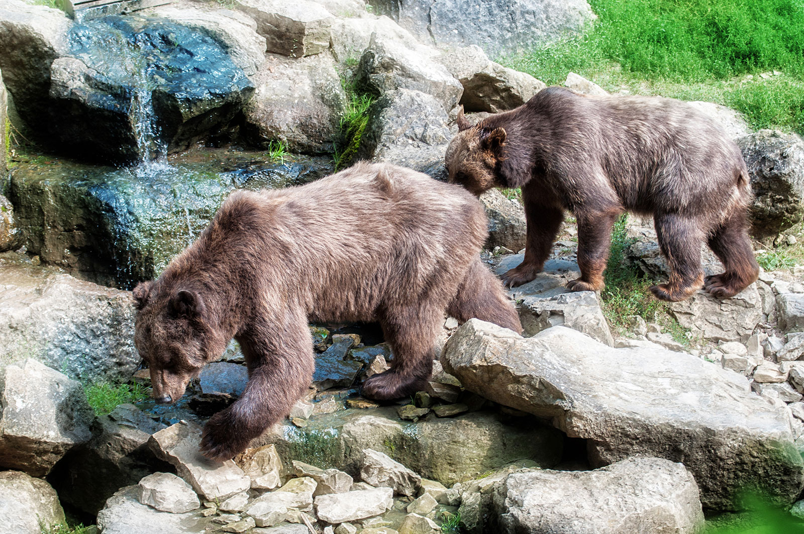
[(237, 187), (285, 187), (326, 173), (318, 158), (299, 157), (295, 168), (265, 154), (215, 150), (136, 169), (30, 159), (14, 166), (9, 194), (28, 251), (123, 289), (157, 277)]

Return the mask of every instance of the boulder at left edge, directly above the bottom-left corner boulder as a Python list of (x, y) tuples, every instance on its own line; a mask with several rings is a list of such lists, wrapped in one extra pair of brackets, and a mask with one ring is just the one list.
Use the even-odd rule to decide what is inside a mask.
[(26, 359), (0, 370), (0, 467), (44, 476), (92, 437), (80, 382)]

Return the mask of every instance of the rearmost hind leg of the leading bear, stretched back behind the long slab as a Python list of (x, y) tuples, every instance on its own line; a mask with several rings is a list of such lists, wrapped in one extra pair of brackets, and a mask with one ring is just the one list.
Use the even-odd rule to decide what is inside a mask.
[(457, 318), (461, 324), (470, 318), (494, 322), (509, 328), (517, 334), (522, 333), (519, 314), (511, 300), (503, 291), (503, 286), (479, 256), (469, 265), (466, 275), (458, 285), (457, 294), (447, 307), (447, 313)]

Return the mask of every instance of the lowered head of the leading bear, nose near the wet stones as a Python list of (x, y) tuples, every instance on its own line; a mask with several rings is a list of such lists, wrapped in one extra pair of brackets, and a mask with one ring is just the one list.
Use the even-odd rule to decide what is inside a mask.
[(133, 290), (137, 318), (134, 345), (148, 364), (151, 396), (178, 401), (190, 380), (226, 346), (207, 317), (202, 294), (191, 288), (162, 288), (146, 281)]

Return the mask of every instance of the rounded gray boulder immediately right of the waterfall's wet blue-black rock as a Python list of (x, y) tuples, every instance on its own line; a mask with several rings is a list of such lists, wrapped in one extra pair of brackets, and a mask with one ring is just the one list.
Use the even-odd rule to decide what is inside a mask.
[(330, 55), (272, 56), (252, 81), (256, 92), (244, 109), (252, 142), (267, 146), (278, 140), (292, 152), (332, 152), (347, 97)]

